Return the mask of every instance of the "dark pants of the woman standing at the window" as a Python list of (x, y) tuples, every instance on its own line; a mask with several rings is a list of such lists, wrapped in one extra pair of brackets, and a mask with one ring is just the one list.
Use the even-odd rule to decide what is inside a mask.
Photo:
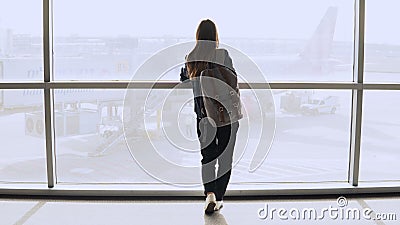
[[(214, 127), (206, 119), (197, 119), (197, 136), (201, 146), (201, 175), (204, 193), (214, 192), (221, 201), (231, 177), (233, 150), (239, 122)], [(218, 169), (216, 164), (218, 162)]]

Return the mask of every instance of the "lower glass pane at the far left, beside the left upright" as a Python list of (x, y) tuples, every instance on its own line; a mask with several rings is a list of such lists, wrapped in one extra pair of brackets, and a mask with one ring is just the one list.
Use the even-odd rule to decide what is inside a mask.
[(47, 181), (43, 91), (0, 90), (0, 182)]

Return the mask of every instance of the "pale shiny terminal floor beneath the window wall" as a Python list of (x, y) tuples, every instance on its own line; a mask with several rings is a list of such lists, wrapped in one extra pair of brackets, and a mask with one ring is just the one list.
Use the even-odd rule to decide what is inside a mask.
[[(0, 224), (400, 224), (400, 197), (347, 198), (339, 204), (346, 200), (342, 207), (335, 198), (226, 200), (221, 212), (208, 216), (198, 200), (0, 199)], [(357, 212), (360, 218), (354, 219)], [(368, 220), (378, 214), (386, 219)]]

